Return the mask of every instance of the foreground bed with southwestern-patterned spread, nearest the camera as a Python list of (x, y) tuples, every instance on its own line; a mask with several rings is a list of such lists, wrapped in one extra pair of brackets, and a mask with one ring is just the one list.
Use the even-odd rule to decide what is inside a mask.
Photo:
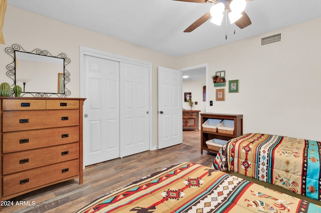
[(321, 212), (321, 206), (191, 162), (111, 191), (78, 212)]

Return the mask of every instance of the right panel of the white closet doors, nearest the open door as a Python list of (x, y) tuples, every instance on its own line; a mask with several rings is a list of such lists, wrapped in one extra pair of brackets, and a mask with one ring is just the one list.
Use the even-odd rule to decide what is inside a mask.
[(149, 150), (149, 67), (120, 62), (120, 157)]

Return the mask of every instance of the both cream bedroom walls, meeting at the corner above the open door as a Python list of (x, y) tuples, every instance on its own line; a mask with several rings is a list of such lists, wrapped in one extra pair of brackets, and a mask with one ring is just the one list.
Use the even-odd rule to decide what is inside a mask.
[[(321, 18), (276, 30), (279, 44), (260, 47), (261, 36), (175, 58), (90, 30), (46, 18), (8, 5), (4, 23), (6, 44), (0, 44), (0, 81), (10, 78), (6, 66), (12, 62), (4, 49), (14, 43), (26, 50), (65, 52), (71, 58), (68, 71), (71, 97), (79, 96), (79, 46), (111, 52), (152, 63), (153, 146), (157, 145), (157, 66), (184, 68), (209, 63), (209, 76), (226, 70), (227, 80), (240, 80), (240, 92), (215, 101), (211, 79), (208, 100), (212, 112), (244, 114), (244, 132), (265, 132), (321, 140), (319, 112), (321, 95)], [(224, 36), (224, 35), (223, 35)], [(213, 56), (215, 55), (215, 57)]]

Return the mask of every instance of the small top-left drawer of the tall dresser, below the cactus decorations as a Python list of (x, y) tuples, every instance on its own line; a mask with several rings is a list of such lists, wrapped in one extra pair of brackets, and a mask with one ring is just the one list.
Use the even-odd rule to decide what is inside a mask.
[(3, 99), (3, 110), (46, 109), (46, 100), (41, 99)]

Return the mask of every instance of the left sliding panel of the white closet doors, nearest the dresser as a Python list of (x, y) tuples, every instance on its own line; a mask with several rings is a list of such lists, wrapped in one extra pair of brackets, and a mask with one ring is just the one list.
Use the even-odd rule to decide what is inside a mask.
[(119, 157), (119, 62), (85, 55), (84, 66), (85, 166)]

